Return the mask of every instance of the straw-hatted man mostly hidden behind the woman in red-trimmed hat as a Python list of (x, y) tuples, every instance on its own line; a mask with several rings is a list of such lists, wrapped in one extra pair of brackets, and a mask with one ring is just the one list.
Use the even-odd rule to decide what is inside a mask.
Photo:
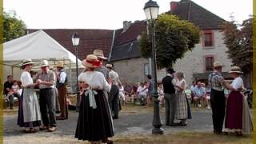
[(102, 66), (98, 67), (96, 71), (101, 72), (106, 78), (106, 81), (108, 81), (110, 71), (105, 66), (103, 66), (103, 62), (104, 60), (107, 60), (107, 58), (104, 57), (102, 50), (94, 50), (94, 55), (96, 55), (98, 60), (102, 62)]

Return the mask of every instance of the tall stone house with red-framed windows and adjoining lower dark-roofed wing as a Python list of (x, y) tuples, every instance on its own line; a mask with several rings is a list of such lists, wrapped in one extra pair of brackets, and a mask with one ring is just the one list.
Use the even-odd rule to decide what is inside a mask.
[[(184, 58), (174, 64), (174, 70), (184, 71), (188, 84), (193, 80), (206, 82), (210, 71), (213, 70), (214, 61), (220, 61), (225, 65), (223, 75), (229, 78), (227, 72), (230, 70), (231, 61), (227, 58), (227, 48), (220, 27), (225, 20), (190, 0), (170, 2), (170, 11), (166, 13), (192, 22), (201, 30), (200, 42), (195, 45), (194, 50), (187, 52)], [(138, 38), (145, 29), (146, 22), (137, 21), (129, 25), (124, 23), (123, 29), (115, 30), (110, 62), (114, 63), (116, 71), (125, 81), (146, 81), (145, 75), (150, 73), (150, 61), (140, 57), (138, 46)], [(157, 73), (158, 82), (161, 82), (166, 71), (157, 70)]]

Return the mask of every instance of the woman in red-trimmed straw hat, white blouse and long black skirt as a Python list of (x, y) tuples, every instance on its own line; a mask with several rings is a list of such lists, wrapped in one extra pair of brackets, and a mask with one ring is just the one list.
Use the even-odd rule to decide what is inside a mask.
[[(82, 61), (87, 71), (78, 76), (82, 93), (78, 125), (75, 138), (88, 140), (91, 143), (113, 143), (108, 138), (114, 136), (113, 120), (110, 107), (103, 90), (110, 92), (110, 83), (106, 82), (103, 74), (94, 71), (102, 65), (97, 57), (90, 54)], [(110, 80), (111, 81), (111, 80)]]

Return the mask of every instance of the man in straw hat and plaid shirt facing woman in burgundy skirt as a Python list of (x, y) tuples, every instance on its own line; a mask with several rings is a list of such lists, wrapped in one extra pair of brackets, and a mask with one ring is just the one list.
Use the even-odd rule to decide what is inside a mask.
[(222, 76), (222, 67), (221, 62), (214, 62), (214, 71), (208, 78), (211, 87), (210, 104), (213, 113), (214, 134), (223, 134), (222, 126), (226, 109), (226, 99), (223, 90), (223, 86), (226, 86), (226, 82)]

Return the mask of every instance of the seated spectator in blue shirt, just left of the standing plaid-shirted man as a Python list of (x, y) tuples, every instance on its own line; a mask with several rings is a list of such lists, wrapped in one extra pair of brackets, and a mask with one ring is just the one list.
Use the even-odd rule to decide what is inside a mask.
[(194, 89), (194, 106), (202, 107), (202, 98), (205, 96), (205, 90), (202, 87), (201, 82), (198, 82), (197, 87)]

